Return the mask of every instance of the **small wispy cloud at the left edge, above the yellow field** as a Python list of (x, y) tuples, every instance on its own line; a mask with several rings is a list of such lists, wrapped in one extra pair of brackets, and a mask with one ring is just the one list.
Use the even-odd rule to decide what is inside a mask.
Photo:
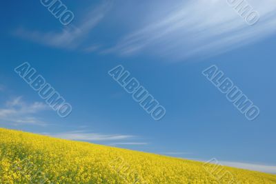
[(13, 125), (46, 125), (34, 116), (34, 114), (44, 110), (50, 110), (45, 103), (26, 103), (21, 96), (18, 96), (11, 101), (7, 101), (6, 105), (0, 108), (0, 120)]

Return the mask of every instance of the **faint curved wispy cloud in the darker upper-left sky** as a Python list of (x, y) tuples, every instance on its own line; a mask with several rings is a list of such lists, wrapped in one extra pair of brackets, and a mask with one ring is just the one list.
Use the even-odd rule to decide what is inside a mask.
[(101, 6), (91, 8), (92, 10), (86, 13), (76, 25), (70, 24), (66, 28), (63, 28), (61, 32), (41, 32), (19, 28), (14, 34), (23, 39), (28, 39), (43, 45), (49, 45), (55, 48), (74, 49), (79, 46), (90, 31), (105, 17), (111, 6), (112, 1), (103, 1)]

